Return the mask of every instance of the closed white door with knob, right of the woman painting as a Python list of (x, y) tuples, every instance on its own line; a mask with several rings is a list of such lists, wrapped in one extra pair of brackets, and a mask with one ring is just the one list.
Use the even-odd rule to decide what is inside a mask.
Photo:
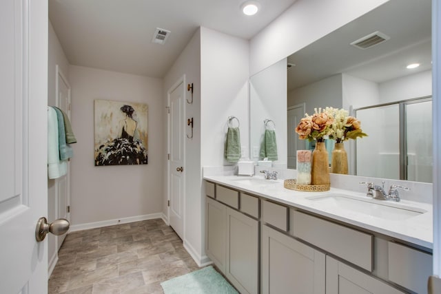
[(181, 79), (169, 91), (169, 220), (181, 239), (184, 237), (184, 136), (185, 90)]

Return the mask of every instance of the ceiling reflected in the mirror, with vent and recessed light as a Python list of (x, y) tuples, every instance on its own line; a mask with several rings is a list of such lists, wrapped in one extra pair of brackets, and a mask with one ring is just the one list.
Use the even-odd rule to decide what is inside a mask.
[[(361, 50), (349, 45), (372, 32), (391, 37)], [(409, 63), (421, 63), (407, 70)], [(382, 83), (431, 69), (431, 0), (391, 0), (288, 57), (288, 90), (334, 74)]]

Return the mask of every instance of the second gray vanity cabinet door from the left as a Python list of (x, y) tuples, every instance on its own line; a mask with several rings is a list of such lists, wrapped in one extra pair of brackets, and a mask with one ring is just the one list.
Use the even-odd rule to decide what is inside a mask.
[(258, 293), (258, 221), (227, 208), (225, 276), (240, 293)]

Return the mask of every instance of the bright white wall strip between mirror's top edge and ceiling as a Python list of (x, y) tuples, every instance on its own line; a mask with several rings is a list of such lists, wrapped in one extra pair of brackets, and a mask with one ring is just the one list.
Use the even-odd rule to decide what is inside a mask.
[(260, 72), (387, 1), (296, 1), (250, 41), (250, 74)]

